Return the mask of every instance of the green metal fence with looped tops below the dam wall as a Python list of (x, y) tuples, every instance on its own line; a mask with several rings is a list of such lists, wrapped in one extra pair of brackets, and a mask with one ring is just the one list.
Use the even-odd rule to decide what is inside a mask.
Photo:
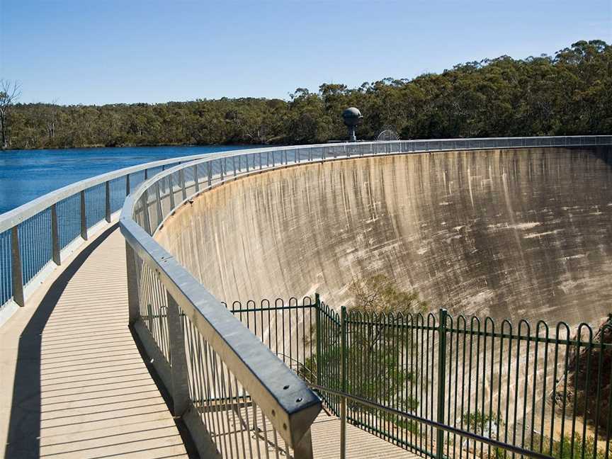
[(407, 450), (611, 455), (609, 322), (595, 333), (588, 324), (498, 323), (445, 310), (338, 314), (318, 296), (230, 310), (319, 390), (330, 414)]

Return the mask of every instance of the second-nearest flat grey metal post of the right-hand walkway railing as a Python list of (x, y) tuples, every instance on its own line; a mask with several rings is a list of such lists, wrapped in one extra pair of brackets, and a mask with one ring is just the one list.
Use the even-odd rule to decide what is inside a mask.
[(170, 295), (168, 298), (168, 336), (170, 341), (170, 370), (172, 375), (172, 414), (182, 416), (189, 407), (189, 380), (185, 355), (185, 336), (179, 305)]

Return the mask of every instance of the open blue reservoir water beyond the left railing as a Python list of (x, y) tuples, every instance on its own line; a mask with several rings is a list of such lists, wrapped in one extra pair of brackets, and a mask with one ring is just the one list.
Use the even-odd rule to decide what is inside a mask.
[(122, 147), (0, 152), (0, 214), (50, 191), (105, 172), (173, 157), (251, 146)]

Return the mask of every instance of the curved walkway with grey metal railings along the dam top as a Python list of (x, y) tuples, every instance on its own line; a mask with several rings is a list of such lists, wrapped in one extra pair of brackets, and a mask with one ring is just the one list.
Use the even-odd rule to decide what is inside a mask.
[[(312, 344), (295, 365), (286, 361), (258, 336), (261, 322), (244, 327), (242, 315), (213, 297), (154, 236), (203, 193), (275, 169), (380, 155), (609, 145), (611, 136), (587, 136), (252, 149), (114, 171), (6, 212), (4, 457), (441, 458), (449, 454), (442, 445), (450, 433), (548, 457), (450, 425), (443, 411), (434, 414), (433, 401), (424, 416), (352, 398), (380, 410), (381, 426), (391, 425), (380, 414), (386, 412), (431, 429), (424, 446), (360, 428), (347, 419), (346, 390), (305, 374)], [(306, 342), (302, 335), (302, 349)], [(346, 380), (344, 365), (338, 372)]]

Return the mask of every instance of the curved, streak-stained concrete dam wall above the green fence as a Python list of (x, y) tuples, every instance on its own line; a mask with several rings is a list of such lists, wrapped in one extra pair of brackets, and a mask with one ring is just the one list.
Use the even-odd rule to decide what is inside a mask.
[(609, 148), (307, 164), (203, 193), (157, 240), (218, 299), (350, 302), (384, 273), (431, 308), (599, 322), (612, 305)]

